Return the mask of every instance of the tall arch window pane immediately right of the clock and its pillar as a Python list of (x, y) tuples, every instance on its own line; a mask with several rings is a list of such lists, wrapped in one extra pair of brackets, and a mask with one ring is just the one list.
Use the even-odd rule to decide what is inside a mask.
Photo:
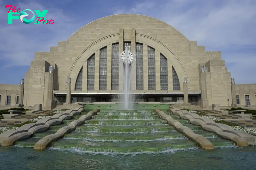
[(143, 44), (136, 43), (136, 90), (143, 90)]

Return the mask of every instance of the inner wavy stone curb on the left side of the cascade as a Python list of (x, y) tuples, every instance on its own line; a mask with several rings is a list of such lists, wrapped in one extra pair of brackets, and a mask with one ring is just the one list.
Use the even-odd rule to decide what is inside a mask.
[(74, 131), (76, 126), (84, 124), (85, 120), (91, 119), (92, 115), (97, 115), (100, 109), (94, 109), (87, 113), (86, 115), (82, 115), (79, 119), (72, 121), (69, 125), (60, 128), (56, 133), (47, 135), (40, 139), (34, 145), (35, 150), (45, 150), (52, 142), (64, 137), (64, 134)]

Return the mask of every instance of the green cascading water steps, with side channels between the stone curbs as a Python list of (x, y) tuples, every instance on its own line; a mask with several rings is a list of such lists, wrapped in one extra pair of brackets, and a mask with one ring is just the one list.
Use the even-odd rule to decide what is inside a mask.
[[(180, 116), (166, 113), (196, 134), (206, 137), (215, 147), (234, 145), (217, 136), (216, 133), (202, 130), (201, 126), (190, 124)], [(40, 138), (55, 133), (82, 115), (63, 120), (62, 124), (51, 126), (49, 130), (35, 133), (33, 138), (17, 141), (16, 145), (33, 147)], [(112, 111), (99, 112), (84, 125), (77, 126), (75, 131), (65, 134), (64, 138), (52, 143), (53, 148), (76, 149), (86, 152), (163, 152), (170, 149), (189, 149), (197, 143), (185, 137), (168, 125), (155, 112)]]

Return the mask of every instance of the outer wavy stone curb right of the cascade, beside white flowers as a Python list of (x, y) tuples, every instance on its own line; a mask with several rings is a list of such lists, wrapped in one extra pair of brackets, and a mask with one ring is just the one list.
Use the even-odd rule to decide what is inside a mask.
[(230, 126), (222, 123), (215, 123), (212, 119), (202, 118), (196, 113), (189, 113), (187, 110), (171, 107), (168, 111), (172, 111), (173, 115), (179, 115), (182, 119), (189, 120), (192, 124), (200, 125), (204, 130), (217, 133), (220, 137), (232, 140), (237, 146), (248, 146), (256, 144), (256, 137), (251, 134), (234, 130)]

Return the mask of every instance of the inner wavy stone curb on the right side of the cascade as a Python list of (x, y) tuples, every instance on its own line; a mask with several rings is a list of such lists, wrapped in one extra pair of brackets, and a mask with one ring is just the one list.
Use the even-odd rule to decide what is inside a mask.
[(214, 145), (205, 137), (195, 134), (193, 130), (189, 129), (186, 126), (183, 126), (179, 121), (172, 119), (170, 115), (166, 115), (163, 111), (158, 109), (154, 109), (156, 111), (156, 115), (160, 115), (162, 119), (166, 120), (169, 125), (175, 127), (181, 133), (184, 133), (186, 137), (196, 141), (199, 144), (200, 148), (204, 150), (214, 150)]

